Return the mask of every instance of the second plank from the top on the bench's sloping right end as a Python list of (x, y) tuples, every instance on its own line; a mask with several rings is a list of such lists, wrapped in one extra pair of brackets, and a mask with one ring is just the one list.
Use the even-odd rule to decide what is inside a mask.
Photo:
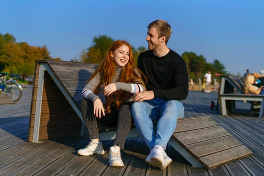
[(221, 126), (173, 134), (174, 138), (181, 142), (183, 145), (207, 141), (227, 135), (230, 135), (230, 133)]

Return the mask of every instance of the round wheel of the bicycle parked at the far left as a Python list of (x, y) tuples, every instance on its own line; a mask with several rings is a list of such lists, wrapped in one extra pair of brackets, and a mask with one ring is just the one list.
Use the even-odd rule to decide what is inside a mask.
[(5, 92), (13, 101), (17, 102), (22, 96), (22, 86), (17, 82), (7, 82)]

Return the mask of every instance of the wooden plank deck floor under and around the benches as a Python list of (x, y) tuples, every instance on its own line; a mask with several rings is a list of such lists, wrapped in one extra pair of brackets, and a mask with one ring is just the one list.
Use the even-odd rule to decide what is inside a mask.
[[(89, 139), (67, 137), (27, 142), (32, 86), (23, 90), (16, 104), (0, 105), (0, 175), (264, 175), (264, 119), (250, 112), (249, 103), (237, 102), (236, 114), (221, 116), (211, 110), (217, 102), (217, 92), (190, 91), (185, 106), (185, 117), (211, 116), (229, 133), (248, 147), (253, 154), (208, 170), (190, 165), (171, 146), (167, 153), (173, 162), (164, 170), (151, 167), (144, 161), (149, 153), (141, 137), (128, 138), (121, 157), (124, 167), (108, 166), (109, 154), (79, 156)], [(103, 141), (109, 151), (113, 140)]]

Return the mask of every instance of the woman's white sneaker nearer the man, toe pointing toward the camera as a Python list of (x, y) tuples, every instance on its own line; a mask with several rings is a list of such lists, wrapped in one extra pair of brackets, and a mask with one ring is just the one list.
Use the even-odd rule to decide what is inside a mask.
[(109, 150), (109, 165), (113, 167), (122, 167), (124, 163), (121, 159), (119, 147), (110, 147)]

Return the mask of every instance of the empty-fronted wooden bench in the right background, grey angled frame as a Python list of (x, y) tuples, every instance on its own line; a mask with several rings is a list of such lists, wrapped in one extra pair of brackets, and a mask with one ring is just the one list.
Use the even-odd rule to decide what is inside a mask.
[[(221, 115), (235, 112), (235, 101), (249, 101), (253, 108), (260, 108), (259, 117), (264, 113), (264, 95), (246, 95), (243, 89), (243, 81), (238, 76), (222, 76), (219, 90)], [(234, 92), (236, 91), (236, 92)], [(261, 102), (256, 105), (255, 101)]]

